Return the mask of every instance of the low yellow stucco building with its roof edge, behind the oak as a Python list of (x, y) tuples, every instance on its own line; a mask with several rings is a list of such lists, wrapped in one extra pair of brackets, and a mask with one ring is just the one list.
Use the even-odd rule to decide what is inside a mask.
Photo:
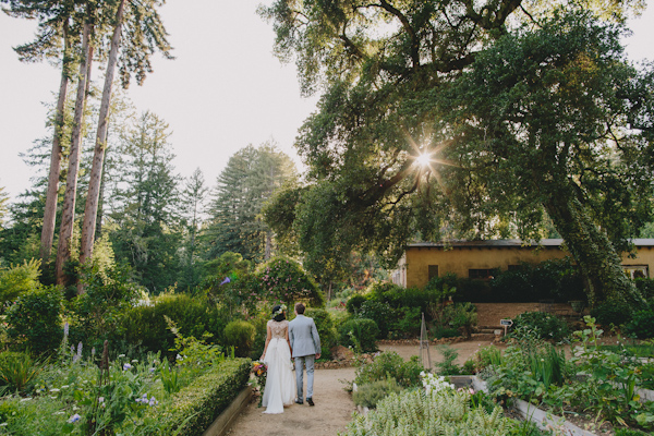
[[(634, 239), (635, 257), (622, 258), (622, 267), (631, 277), (652, 277), (654, 239)], [(536, 245), (520, 240), (421, 242), (410, 244), (392, 275), (392, 281), (404, 288), (424, 288), (433, 277), (455, 272), (459, 277), (484, 279), (494, 269), (507, 269), (521, 263), (538, 264), (561, 258), (561, 239), (544, 239)]]

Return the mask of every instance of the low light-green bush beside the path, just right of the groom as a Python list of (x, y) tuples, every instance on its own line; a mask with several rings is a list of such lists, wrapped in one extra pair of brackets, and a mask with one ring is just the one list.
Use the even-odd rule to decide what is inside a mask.
[(372, 363), (366, 363), (356, 368), (354, 383), (356, 386), (362, 386), (373, 382), (395, 378), (400, 386), (411, 388), (421, 386), (420, 373), (423, 371), (424, 367), (420, 364), (417, 356), (412, 356), (404, 362), (395, 351), (385, 351), (376, 355)]

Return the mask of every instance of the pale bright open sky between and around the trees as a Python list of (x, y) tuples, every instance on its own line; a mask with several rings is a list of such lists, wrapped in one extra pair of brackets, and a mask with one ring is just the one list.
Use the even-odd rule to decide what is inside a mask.
[[(143, 86), (133, 81), (128, 92), (140, 112), (149, 110), (170, 125), (177, 171), (190, 177), (199, 168), (211, 187), (229, 158), (249, 144), (272, 140), (300, 165), (293, 141), (316, 109), (317, 96), (300, 95), (294, 64), (272, 55), (272, 26), (256, 14), (259, 3), (168, 0), (161, 16), (177, 59), (157, 56)], [(630, 59), (654, 60), (654, 5), (629, 27)], [(22, 63), (12, 50), (31, 41), (35, 29), (33, 21), (0, 13), (0, 186), (12, 199), (32, 184), (34, 169), (19, 154), (49, 135), (44, 104), (56, 100), (60, 81), (58, 68)], [(97, 64), (93, 77), (102, 85)]]

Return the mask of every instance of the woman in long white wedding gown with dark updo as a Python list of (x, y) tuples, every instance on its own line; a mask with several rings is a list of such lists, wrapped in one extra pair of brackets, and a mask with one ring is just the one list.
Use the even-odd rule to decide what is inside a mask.
[(267, 408), (264, 413), (283, 413), (283, 407), (292, 404), (295, 398), (289, 322), (283, 304), (272, 307), (272, 319), (268, 320), (267, 330), (266, 347), (261, 359), (268, 366), (262, 405)]

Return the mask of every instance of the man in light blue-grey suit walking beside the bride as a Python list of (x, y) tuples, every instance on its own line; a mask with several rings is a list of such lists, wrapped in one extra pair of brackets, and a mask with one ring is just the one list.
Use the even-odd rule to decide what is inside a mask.
[(295, 304), (295, 319), (289, 323), (289, 340), (295, 359), (295, 380), (298, 383), (298, 404), (302, 401), (303, 365), (306, 367), (306, 402), (313, 402), (314, 360), (320, 359), (320, 338), (313, 318), (304, 316), (304, 304)]

